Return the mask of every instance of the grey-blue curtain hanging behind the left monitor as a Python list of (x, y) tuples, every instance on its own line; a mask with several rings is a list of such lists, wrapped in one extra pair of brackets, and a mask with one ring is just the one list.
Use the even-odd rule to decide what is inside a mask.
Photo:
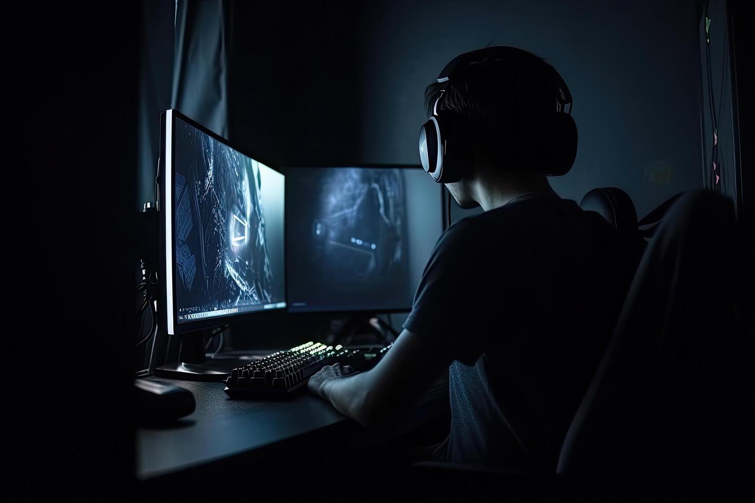
[(143, 0), (137, 210), (155, 200), (161, 112), (228, 137), (229, 27), (227, 0)]

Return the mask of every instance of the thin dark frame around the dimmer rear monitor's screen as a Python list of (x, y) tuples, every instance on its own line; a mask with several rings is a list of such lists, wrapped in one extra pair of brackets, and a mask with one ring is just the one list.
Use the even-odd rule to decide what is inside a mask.
[[(294, 166), (287, 166), (283, 168), (285, 176), (288, 176), (288, 173), (291, 172), (291, 170), (303, 170), (303, 169), (331, 169), (331, 168), (357, 168), (357, 169), (374, 169), (374, 168), (385, 168), (385, 169), (419, 169), (424, 171), (424, 168), (421, 164), (366, 164), (366, 163), (354, 163), (354, 164), (318, 164), (318, 165), (309, 165), (309, 166), (302, 166), (302, 165), (294, 165)], [(430, 176), (430, 175), (428, 175)], [(432, 177), (430, 176), (430, 179)], [(433, 180), (434, 181), (434, 180)], [(437, 183), (437, 182), (436, 182)], [(445, 232), (445, 228), (447, 226), (446, 222), (446, 216), (445, 211), (443, 208), (445, 207), (445, 190), (442, 183), (437, 183), (439, 186), (439, 200), (440, 200), (440, 210), (441, 210), (441, 234)], [(285, 186), (286, 192), (288, 192), (289, 185), (287, 184)], [(291, 198), (288, 197), (288, 193), (284, 197), (285, 204), (288, 204), (288, 201), (291, 201)], [(287, 210), (284, 211), (284, 213), (288, 213)], [(285, 221), (285, 234), (288, 236), (288, 219)], [(288, 248), (285, 250), (285, 265), (286, 269), (288, 269), (288, 261), (289, 261), (289, 251)], [(377, 308), (377, 309), (331, 309), (328, 307), (323, 307), (322, 309), (312, 309), (307, 307), (297, 307), (291, 305), (289, 296), (288, 296), (288, 284), (289, 281), (291, 281), (291, 276), (286, 275), (286, 282), (285, 282), (285, 291), (286, 291), (286, 299), (288, 302), (288, 312), (291, 314), (331, 314), (331, 315), (339, 315), (339, 314), (350, 314), (350, 315), (359, 315), (359, 314), (394, 314), (394, 313), (407, 313), (411, 311), (411, 305), (408, 306), (400, 306), (400, 307), (392, 307), (392, 308)]]

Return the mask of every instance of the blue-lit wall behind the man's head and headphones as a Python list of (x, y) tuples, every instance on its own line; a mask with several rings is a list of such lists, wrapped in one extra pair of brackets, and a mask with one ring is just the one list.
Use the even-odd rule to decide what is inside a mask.
[(551, 179), (556, 192), (580, 201), (618, 186), (643, 216), (702, 184), (695, 10), (685, 0), (365, 2), (361, 158), (418, 162), (425, 86), (462, 52), (513, 45), (547, 58), (575, 100), (578, 155)]

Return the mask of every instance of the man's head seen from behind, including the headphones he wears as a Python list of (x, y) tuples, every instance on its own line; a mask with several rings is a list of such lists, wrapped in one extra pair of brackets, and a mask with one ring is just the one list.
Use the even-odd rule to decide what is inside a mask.
[(487, 48), (455, 58), (425, 91), (427, 115), (440, 123), (445, 174), (455, 172), (448, 181), (433, 178), (445, 182), (461, 207), (478, 204), (480, 183), (547, 185), (545, 176), (569, 170), (576, 152), (574, 123), (559, 113), (565, 103), (571, 104), (569, 90), (535, 54)]

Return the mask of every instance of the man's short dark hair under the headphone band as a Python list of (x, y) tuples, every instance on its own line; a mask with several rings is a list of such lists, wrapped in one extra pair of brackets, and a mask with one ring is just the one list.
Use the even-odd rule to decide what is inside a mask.
[[(470, 63), (455, 72), (455, 78), (427, 86), (427, 115), (433, 115), (436, 101), (445, 94), (437, 111), (449, 110), (467, 118), (481, 143), (497, 148), (502, 138), (538, 134), (538, 121), (556, 106), (553, 77), (546, 65), (540, 57)], [(496, 152), (486, 153), (500, 161)], [(501, 153), (514, 161), (511, 155)]]

